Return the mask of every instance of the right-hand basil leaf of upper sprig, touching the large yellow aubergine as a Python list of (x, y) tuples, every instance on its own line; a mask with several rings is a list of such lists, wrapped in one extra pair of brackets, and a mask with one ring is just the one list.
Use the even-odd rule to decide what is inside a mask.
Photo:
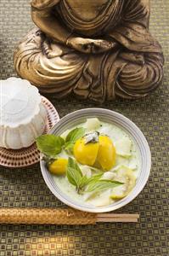
[(75, 128), (65, 138), (65, 149), (73, 148), (76, 140), (80, 139), (85, 133), (85, 128)]

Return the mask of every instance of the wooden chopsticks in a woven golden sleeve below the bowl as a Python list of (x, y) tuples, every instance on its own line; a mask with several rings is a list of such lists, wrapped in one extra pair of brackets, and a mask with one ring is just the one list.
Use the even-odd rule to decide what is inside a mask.
[(84, 225), (113, 222), (138, 222), (139, 214), (90, 213), (72, 208), (1, 208), (0, 224)]

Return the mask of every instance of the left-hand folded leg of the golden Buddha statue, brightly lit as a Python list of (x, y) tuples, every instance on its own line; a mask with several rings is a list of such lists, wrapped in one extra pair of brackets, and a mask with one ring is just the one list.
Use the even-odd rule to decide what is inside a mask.
[(70, 94), (86, 61), (73, 49), (49, 42), (38, 28), (32, 29), (14, 51), (14, 67), (20, 77), (58, 98)]

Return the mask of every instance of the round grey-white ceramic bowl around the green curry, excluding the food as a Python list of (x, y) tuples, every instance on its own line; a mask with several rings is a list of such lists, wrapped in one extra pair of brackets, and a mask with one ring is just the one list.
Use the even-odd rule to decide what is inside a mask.
[(74, 201), (73, 198), (70, 198), (68, 195), (65, 195), (58, 188), (56, 183), (54, 183), (54, 176), (48, 172), (48, 169), (45, 166), (45, 162), (41, 160), (42, 176), (51, 192), (66, 205), (85, 212), (110, 212), (126, 206), (142, 191), (142, 189), (144, 189), (144, 186), (149, 178), (149, 172), (151, 167), (151, 154), (149, 150), (149, 144), (147, 143), (144, 134), (142, 133), (142, 131), (139, 130), (137, 125), (132, 123), (130, 119), (127, 119), (120, 113), (116, 113), (114, 111), (104, 108), (86, 108), (67, 114), (64, 118), (60, 119), (56, 125), (54, 125), (54, 128), (50, 131), (50, 133), (61, 135), (67, 129), (71, 129), (75, 127), (75, 125), (82, 124), (82, 122), (85, 122), (87, 118), (93, 117), (97, 117), (101, 121), (120, 126), (121, 129), (126, 131), (136, 143), (140, 154), (141, 168), (138, 175), (137, 183), (134, 189), (132, 189), (131, 193), (125, 198), (119, 201), (115, 201), (114, 203), (106, 207), (88, 207), (83, 203), (80, 204), (79, 202)]

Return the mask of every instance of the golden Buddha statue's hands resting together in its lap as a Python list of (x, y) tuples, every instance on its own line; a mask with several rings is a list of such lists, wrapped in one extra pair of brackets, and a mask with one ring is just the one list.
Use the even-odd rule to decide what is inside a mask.
[(107, 41), (104, 39), (90, 39), (90, 38), (68, 38), (66, 42), (68, 47), (81, 51), (87, 54), (99, 54), (110, 49), (115, 48), (117, 43)]

